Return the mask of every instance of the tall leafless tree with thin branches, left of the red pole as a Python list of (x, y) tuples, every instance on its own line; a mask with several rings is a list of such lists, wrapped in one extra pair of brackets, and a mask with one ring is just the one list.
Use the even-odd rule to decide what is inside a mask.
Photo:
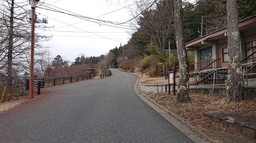
[[(0, 73), (8, 76), (8, 85), (12, 79), (29, 73), (31, 24), (28, 20), (28, 1), (2, 0), (0, 2)], [(37, 28), (45, 28), (38, 24)], [(49, 36), (35, 34), (35, 63), (41, 62), (45, 49), (39, 42), (49, 40)], [(40, 50), (39, 50), (40, 49)], [(3, 64), (2, 64), (3, 62)], [(18, 80), (16, 80), (18, 81)]]

